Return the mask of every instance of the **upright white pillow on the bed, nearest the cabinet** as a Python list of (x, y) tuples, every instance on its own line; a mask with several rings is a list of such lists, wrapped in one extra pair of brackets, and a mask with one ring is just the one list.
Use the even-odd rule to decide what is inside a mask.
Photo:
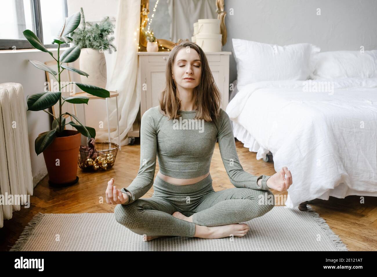
[(233, 38), (238, 89), (259, 81), (307, 80), (320, 48), (310, 43), (286, 46)]

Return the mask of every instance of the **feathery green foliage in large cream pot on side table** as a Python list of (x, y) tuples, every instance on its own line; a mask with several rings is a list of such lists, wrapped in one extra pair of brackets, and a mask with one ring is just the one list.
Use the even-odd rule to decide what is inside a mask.
[(81, 8), (82, 28), (77, 28), (72, 33), (73, 41), (81, 48), (80, 69), (89, 74), (89, 77), (81, 77), (81, 82), (99, 87), (106, 87), (106, 59), (104, 51), (116, 51), (112, 44), (114, 37), (114, 25), (109, 17), (104, 18), (99, 24), (86, 22), (83, 8)]

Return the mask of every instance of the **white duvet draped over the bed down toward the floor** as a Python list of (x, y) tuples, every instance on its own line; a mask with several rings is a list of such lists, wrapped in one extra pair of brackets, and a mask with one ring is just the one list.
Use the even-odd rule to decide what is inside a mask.
[(226, 112), (257, 159), (271, 151), (275, 170), (291, 171), (287, 207), (377, 196), (377, 79), (257, 82)]

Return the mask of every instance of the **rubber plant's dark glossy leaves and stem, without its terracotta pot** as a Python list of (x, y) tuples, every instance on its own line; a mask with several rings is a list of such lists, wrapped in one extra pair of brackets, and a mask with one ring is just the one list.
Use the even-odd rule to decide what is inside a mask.
[[(52, 69), (51, 67), (47, 66), (44, 63), (41, 63), (40, 61), (29, 60), (38, 69), (51, 73), (52, 76), (55, 78), (55, 80), (59, 84), (58, 92), (35, 93), (32, 95), (29, 95), (26, 99), (26, 102), (28, 104), (28, 110), (31, 110), (31, 111), (43, 110), (44, 112), (49, 113), (51, 116), (54, 117), (54, 121), (52, 122), (52, 130), (41, 133), (35, 139), (35, 152), (37, 153), (37, 155), (42, 153), (54, 141), (56, 137), (64, 136), (64, 133), (63, 133), (64, 126), (67, 124), (72, 125), (75, 129), (77, 129), (79, 133), (86, 136), (88, 138), (88, 141), (90, 138), (95, 138), (94, 128), (87, 127), (81, 124), (81, 122), (78, 120), (78, 118), (75, 115), (72, 115), (68, 112), (66, 113), (61, 112), (61, 107), (63, 106), (65, 102), (73, 103), (73, 104), (83, 104), (83, 103), (87, 104), (89, 101), (89, 98), (85, 96), (69, 96), (69, 97), (64, 98), (64, 96), (61, 95), (61, 90), (65, 86), (69, 84), (76, 84), (81, 90), (91, 95), (95, 95), (101, 98), (107, 98), (110, 96), (109, 91), (107, 91), (106, 89), (102, 89), (97, 86), (92, 86), (92, 85), (87, 85), (87, 84), (82, 84), (82, 83), (69, 82), (65, 86), (61, 87), (60, 75), (64, 70), (69, 70), (69, 71), (78, 73), (80, 75), (84, 75), (86, 77), (89, 76), (87, 73), (79, 69), (63, 65), (63, 63), (72, 63), (78, 59), (78, 57), (80, 56), (80, 51), (81, 51), (79, 46), (70, 47), (60, 55), (60, 46), (62, 44), (68, 45), (69, 43), (72, 43), (73, 40), (68, 35), (79, 26), (80, 19), (81, 19), (80, 12), (77, 12), (71, 15), (70, 17), (66, 18), (57, 37), (54, 38), (54, 40), (52, 41), (52, 44), (54, 43), (58, 44), (57, 58), (54, 57), (51, 51), (49, 51), (48, 49), (46, 49), (46, 47), (44, 47), (43, 43), (41, 43), (38, 37), (31, 30), (23, 31), (23, 35), (35, 49), (49, 53), (52, 56), (52, 58), (54, 58), (54, 60), (57, 61), (57, 71), (55, 71), (54, 69)], [(46, 109), (54, 106), (57, 102), (59, 102), (59, 116), (55, 117), (54, 115), (52, 115), (52, 113), (48, 112)], [(66, 123), (65, 122), (66, 119), (64, 118), (64, 115), (71, 116), (77, 122), (70, 121)]]

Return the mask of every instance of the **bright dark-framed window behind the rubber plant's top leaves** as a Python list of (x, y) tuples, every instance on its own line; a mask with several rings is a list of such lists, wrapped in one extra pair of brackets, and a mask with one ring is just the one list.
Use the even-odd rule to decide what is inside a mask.
[(0, 49), (33, 48), (23, 31), (29, 29), (45, 47), (58, 47), (52, 40), (68, 17), (67, 0), (2, 0), (0, 2)]

